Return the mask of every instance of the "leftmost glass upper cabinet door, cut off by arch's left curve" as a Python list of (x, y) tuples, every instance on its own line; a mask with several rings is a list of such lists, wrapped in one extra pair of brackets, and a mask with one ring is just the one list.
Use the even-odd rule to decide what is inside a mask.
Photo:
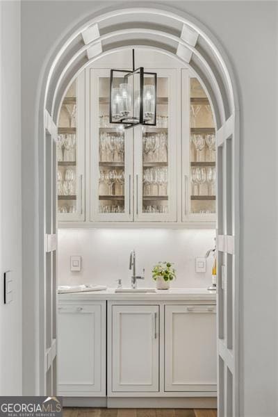
[(58, 120), (58, 221), (81, 221), (84, 213), (85, 76), (68, 88)]

